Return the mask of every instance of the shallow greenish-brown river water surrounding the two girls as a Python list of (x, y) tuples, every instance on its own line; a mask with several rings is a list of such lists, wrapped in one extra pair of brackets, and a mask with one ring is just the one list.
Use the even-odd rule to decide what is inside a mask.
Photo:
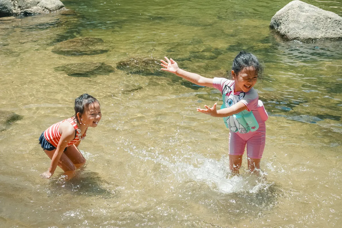
[[(306, 2), (342, 15), (340, 1)], [(18, 115), (0, 128), (0, 227), (342, 227), (341, 41), (283, 41), (268, 25), (284, 0), (63, 3), (70, 11), (0, 21), (0, 111)], [(55, 51), (84, 37), (103, 42)], [(265, 65), (263, 178), (245, 156), (232, 177), (228, 130), (196, 112), (221, 105), (218, 90), (151, 70), (166, 55), (228, 77), (241, 50)], [(120, 67), (130, 59), (147, 67)], [(57, 68), (83, 62), (107, 70)], [(87, 163), (71, 180), (59, 167), (42, 179), (38, 137), (82, 93), (103, 114), (79, 146)]]

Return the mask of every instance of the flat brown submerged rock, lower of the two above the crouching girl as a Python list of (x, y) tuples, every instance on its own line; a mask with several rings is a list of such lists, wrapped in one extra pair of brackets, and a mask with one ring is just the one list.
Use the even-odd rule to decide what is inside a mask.
[(55, 70), (64, 71), (73, 77), (92, 77), (96, 75), (109, 75), (115, 71), (114, 67), (99, 62), (71, 63), (65, 66), (55, 67)]

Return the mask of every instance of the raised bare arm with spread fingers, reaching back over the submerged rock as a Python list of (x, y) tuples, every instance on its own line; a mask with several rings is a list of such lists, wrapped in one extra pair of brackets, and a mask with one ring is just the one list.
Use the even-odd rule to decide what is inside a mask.
[(168, 63), (166, 63), (163, 60), (160, 60), (161, 66), (164, 68), (161, 68), (161, 70), (169, 71), (171, 73), (174, 73), (175, 75), (182, 77), (189, 82), (195, 83), (196, 85), (201, 85), (201, 86), (207, 86), (207, 87), (212, 87), (213, 86), (213, 79), (212, 78), (205, 78), (197, 73), (191, 73), (185, 70), (182, 70), (178, 67), (178, 64), (172, 59), (168, 59), (166, 56), (164, 57)]

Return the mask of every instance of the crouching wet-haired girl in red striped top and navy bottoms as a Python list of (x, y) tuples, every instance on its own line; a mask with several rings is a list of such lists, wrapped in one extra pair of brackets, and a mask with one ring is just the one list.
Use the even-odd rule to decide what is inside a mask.
[(41, 175), (43, 178), (50, 178), (57, 165), (68, 172), (86, 162), (77, 147), (86, 137), (88, 127), (95, 128), (101, 120), (101, 107), (96, 98), (83, 94), (75, 99), (74, 109), (75, 116), (53, 124), (39, 137), (39, 144), (51, 159), (49, 170)]

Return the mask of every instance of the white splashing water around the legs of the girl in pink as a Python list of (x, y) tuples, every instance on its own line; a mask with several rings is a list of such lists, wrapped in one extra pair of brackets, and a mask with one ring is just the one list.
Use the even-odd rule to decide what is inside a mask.
[[(133, 156), (130, 150), (128, 150)], [(148, 153), (142, 151), (146, 156)], [(240, 175), (234, 176), (229, 170), (229, 161), (227, 158), (215, 160), (205, 158), (200, 155), (192, 155), (191, 164), (182, 162), (182, 159), (173, 157), (173, 162), (163, 155), (154, 153), (154, 157), (140, 157), (142, 160), (152, 160), (169, 167), (179, 182), (194, 180), (196, 182), (206, 183), (211, 190), (218, 193), (238, 193), (249, 192), (256, 193), (259, 190), (267, 189), (273, 183), (267, 183), (265, 177), (267, 173), (260, 171), (260, 175), (250, 174), (240, 169)]]

